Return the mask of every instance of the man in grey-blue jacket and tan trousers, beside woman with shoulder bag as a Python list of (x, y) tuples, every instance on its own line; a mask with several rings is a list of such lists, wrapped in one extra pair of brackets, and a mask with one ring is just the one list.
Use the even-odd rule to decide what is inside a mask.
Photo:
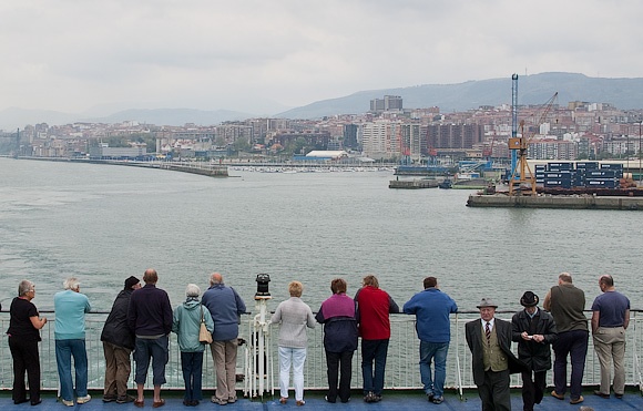
[(225, 405), (236, 401), (238, 319), (246, 311), (246, 306), (234, 288), (223, 284), (218, 273), (210, 276), (210, 288), (203, 294), (201, 302), (214, 320), (210, 350), (216, 369), (216, 392), (212, 395), (212, 402)]

